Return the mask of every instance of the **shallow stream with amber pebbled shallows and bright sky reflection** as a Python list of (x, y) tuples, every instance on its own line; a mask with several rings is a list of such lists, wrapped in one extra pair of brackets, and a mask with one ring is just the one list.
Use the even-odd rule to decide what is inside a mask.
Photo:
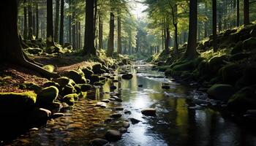
[[(91, 139), (104, 138), (105, 131), (120, 128), (128, 118), (141, 122), (131, 123), (122, 139), (111, 145), (256, 145), (255, 131), (243, 124), (238, 125), (214, 110), (191, 108), (191, 99), (206, 96), (205, 93), (151, 71), (148, 64), (138, 62), (130, 71), (134, 73), (132, 80), (116, 76), (119, 82), (107, 82), (95, 95), (97, 100), (108, 99), (110, 85), (116, 85), (123, 102), (111, 102), (107, 108), (101, 108), (95, 107), (97, 100), (81, 99), (64, 117), (28, 131), (11, 145), (89, 145)], [(170, 89), (162, 89), (163, 84), (170, 85)], [(132, 114), (115, 111), (115, 107), (124, 107)], [(155, 108), (157, 115), (142, 115), (140, 110), (147, 107)], [(113, 112), (121, 113), (122, 117), (105, 123)]]

